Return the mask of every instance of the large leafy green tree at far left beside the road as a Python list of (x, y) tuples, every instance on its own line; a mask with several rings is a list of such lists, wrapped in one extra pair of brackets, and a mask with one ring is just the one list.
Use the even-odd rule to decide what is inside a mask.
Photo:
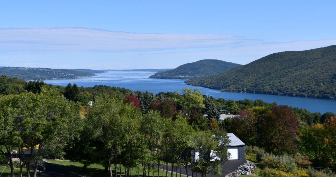
[(0, 103), (1, 114), (13, 120), (8, 121), (7, 125), (12, 125), (10, 122), (15, 125), (12, 127), (15, 134), (11, 135), (15, 139), (5, 145), (15, 143), (20, 153), (23, 153), (22, 147), (30, 148), (30, 156), (24, 156), (27, 176), (30, 176), (32, 162), (35, 163), (36, 176), (40, 157), (43, 154), (59, 157), (62, 146), (77, 135), (78, 107), (51, 87), (42, 87), (41, 94), (21, 93), (2, 98), (5, 101)]

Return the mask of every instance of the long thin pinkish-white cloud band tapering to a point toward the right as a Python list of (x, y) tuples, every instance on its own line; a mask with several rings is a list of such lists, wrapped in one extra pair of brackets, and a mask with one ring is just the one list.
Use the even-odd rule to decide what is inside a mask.
[(0, 52), (116, 52), (150, 51), (249, 43), (234, 35), (155, 34), (114, 32), (88, 28), (0, 29)]

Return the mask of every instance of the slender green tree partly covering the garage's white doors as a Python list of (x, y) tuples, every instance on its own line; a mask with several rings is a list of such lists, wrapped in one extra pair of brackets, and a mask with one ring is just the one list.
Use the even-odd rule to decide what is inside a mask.
[(225, 164), (228, 154), (229, 138), (225, 130), (214, 129), (198, 132), (194, 141), (195, 151), (199, 152), (196, 160), (196, 168), (202, 173), (202, 177), (212, 173), (221, 175), (222, 165)]

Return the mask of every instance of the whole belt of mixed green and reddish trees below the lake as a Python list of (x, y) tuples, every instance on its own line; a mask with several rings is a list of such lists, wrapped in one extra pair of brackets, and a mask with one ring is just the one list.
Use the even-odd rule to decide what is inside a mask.
[[(102, 85), (63, 87), (1, 79), (9, 84), (0, 96), (1, 159), (21, 172), (33, 164), (34, 176), (45, 156), (80, 162), (83, 170), (100, 164), (115, 177), (121, 165), (126, 176), (136, 168), (146, 177), (158, 172), (160, 164), (166, 169), (183, 166), (191, 175), (219, 175), (228, 158), (226, 133), (267, 153), (301, 154), (314, 166), (336, 166), (336, 121), (330, 112), (215, 99), (192, 88), (154, 95)], [(221, 112), (237, 116), (219, 121)], [(31, 156), (24, 155), (24, 148)], [(20, 153), (18, 163), (11, 161), (13, 150)], [(195, 151), (201, 155), (194, 161)]]

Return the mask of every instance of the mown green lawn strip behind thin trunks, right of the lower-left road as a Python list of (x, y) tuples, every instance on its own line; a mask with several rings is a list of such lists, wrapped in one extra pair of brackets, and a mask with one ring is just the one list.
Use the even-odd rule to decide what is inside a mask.
[[(77, 173), (82, 176), (88, 176), (88, 177), (99, 177), (99, 176), (110, 176), (109, 173), (104, 173), (104, 167), (98, 164), (92, 164), (87, 167), (87, 172), (83, 171), (83, 164), (78, 162), (69, 162), (69, 161), (55, 161), (55, 160), (46, 160), (47, 162), (50, 162), (52, 164), (56, 164), (61, 168), (64, 168), (68, 171)], [(160, 177), (162, 177), (162, 170), (160, 170)], [(119, 174), (119, 164), (118, 164), (118, 174)], [(150, 176), (152, 176), (152, 171), (150, 172)], [(141, 171), (139, 171), (139, 174), (141, 176)], [(125, 176), (125, 168), (121, 166), (121, 175)], [(168, 173), (168, 176), (170, 176), (171, 173)], [(132, 177), (137, 177), (138, 172), (136, 168), (132, 169)], [(166, 172), (164, 172), (164, 176), (166, 176)], [(154, 169), (154, 177), (158, 177), (158, 169)]]

